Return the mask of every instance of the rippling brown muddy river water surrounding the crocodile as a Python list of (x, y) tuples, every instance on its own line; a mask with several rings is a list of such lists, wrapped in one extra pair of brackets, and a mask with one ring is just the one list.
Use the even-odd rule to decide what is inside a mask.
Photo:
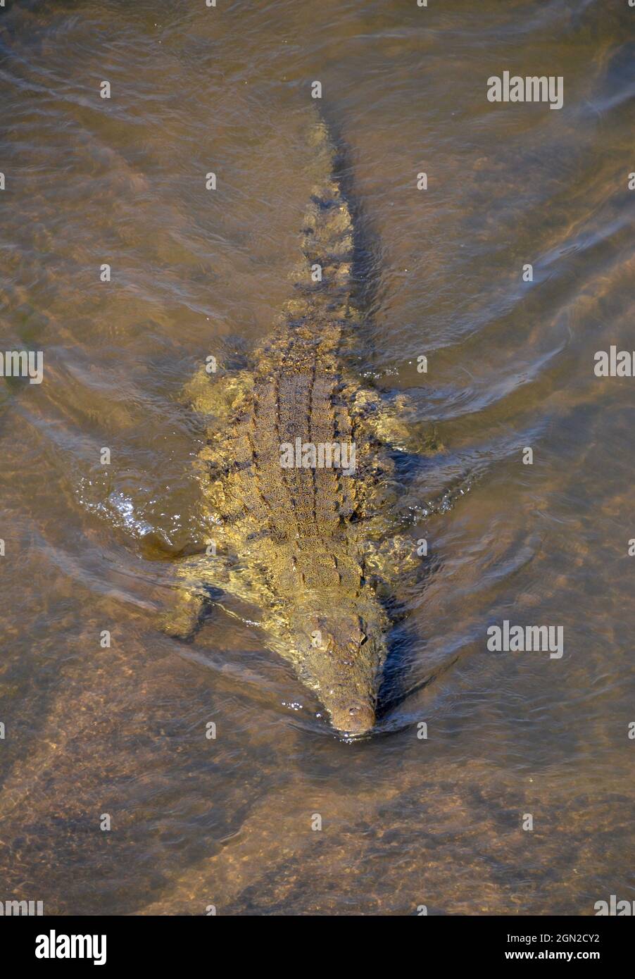
[[(635, 898), (635, 379), (594, 373), (596, 351), (635, 348), (634, 55), (626, 0), (0, 12), (0, 349), (44, 363), (39, 385), (0, 380), (1, 900)], [(563, 108), (489, 102), (504, 70), (562, 76)], [(356, 215), (355, 369), (407, 390), (445, 446), (404, 476), (426, 573), (352, 743), (257, 609), (221, 600), (190, 644), (158, 628), (169, 556), (199, 534), (204, 435), (179, 392), (290, 298), (313, 80)], [(504, 621), (562, 627), (562, 657), (489, 651)]]

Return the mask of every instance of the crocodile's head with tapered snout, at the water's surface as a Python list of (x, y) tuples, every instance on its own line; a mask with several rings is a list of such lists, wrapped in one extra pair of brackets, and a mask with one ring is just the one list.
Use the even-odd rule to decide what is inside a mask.
[(386, 658), (379, 623), (354, 613), (324, 613), (295, 623), (302, 681), (317, 693), (331, 723), (345, 735), (365, 734), (375, 723), (377, 689)]

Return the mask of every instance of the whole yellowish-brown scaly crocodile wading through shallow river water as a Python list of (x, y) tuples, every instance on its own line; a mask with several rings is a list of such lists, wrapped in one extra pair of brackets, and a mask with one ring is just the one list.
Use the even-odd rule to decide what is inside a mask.
[(376, 723), (393, 579), (421, 560), (388, 519), (395, 452), (413, 430), (404, 395), (359, 383), (344, 363), (344, 338), (361, 322), (353, 225), (329, 131), (321, 120), (311, 131), (324, 173), (303, 222), (294, 296), (251, 366), (205, 364), (185, 388), (204, 416), (208, 542), (176, 562), (163, 628), (191, 639), (216, 589), (258, 606), (267, 646), (353, 738)]

